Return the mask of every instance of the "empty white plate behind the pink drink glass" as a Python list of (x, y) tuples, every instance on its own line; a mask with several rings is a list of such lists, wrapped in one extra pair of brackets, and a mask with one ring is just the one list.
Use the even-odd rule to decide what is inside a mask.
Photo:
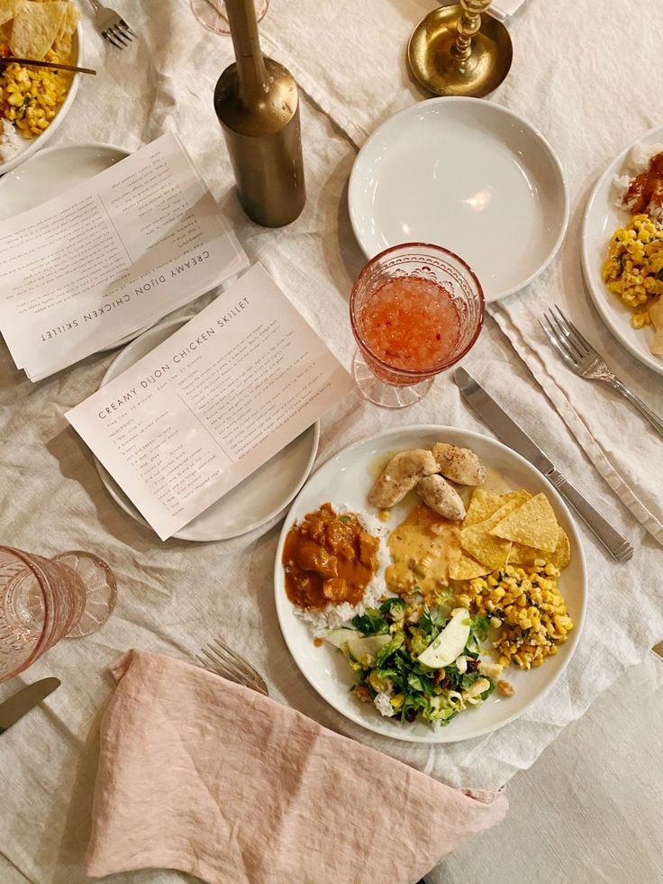
[(478, 98), (431, 98), (379, 126), (359, 150), (348, 203), (367, 258), (402, 242), (443, 246), (468, 262), (488, 302), (531, 282), (568, 223), (548, 141)]

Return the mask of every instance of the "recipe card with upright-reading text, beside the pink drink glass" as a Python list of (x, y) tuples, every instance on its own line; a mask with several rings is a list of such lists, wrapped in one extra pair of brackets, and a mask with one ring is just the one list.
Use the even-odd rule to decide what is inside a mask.
[(348, 372), (256, 264), (66, 416), (166, 540), (351, 388)]

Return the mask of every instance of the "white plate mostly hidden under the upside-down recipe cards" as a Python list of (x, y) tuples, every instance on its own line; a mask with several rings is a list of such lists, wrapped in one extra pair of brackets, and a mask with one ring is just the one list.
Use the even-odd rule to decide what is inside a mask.
[[(48, 130), (47, 130), (48, 132)], [(32, 159), (0, 178), (0, 219), (27, 212), (37, 205), (84, 184), (99, 172), (110, 169), (129, 156), (129, 151), (116, 144), (84, 141), (41, 150)], [(102, 347), (104, 353), (123, 347), (143, 333), (145, 328), (127, 334), (113, 344)]]

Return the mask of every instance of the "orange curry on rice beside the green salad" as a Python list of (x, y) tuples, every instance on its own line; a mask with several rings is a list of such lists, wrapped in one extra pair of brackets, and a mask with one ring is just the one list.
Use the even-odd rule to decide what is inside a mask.
[(377, 571), (379, 541), (356, 515), (337, 515), (322, 504), (287, 533), (281, 558), (286, 593), (294, 605), (356, 605)]

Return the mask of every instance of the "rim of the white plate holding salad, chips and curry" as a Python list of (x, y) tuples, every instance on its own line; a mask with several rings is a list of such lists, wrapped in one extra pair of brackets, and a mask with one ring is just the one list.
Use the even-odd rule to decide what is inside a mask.
[[(313, 684), (313, 681), (309, 678), (306, 671), (304, 670), (304, 668), (302, 666), (300, 666), (300, 663), (297, 660), (297, 655), (294, 652), (293, 646), (292, 646), (292, 644), (289, 640), (289, 637), (288, 637), (288, 630), (284, 624), (284, 616), (285, 616), (286, 611), (290, 612), (290, 614), (292, 616), (295, 616), (295, 614), (292, 613), (292, 606), (290, 608), (286, 607), (287, 599), (286, 599), (285, 593), (283, 592), (283, 584), (282, 584), (282, 580), (281, 580), (281, 575), (282, 575), (281, 553), (283, 551), (283, 545), (284, 545), (284, 542), (286, 539), (286, 534), (289, 531), (290, 526), (291, 526), (291, 515), (292, 515), (293, 511), (295, 510), (295, 506), (297, 506), (299, 498), (304, 494), (304, 491), (305, 491), (306, 487), (308, 486), (309, 482), (313, 481), (313, 479), (318, 475), (319, 472), (321, 472), (322, 469), (327, 468), (327, 466), (329, 464), (331, 464), (333, 460), (338, 459), (339, 457), (341, 457), (341, 455), (344, 455), (344, 454), (347, 454), (351, 451), (354, 451), (357, 448), (359, 448), (361, 445), (365, 445), (368, 442), (371, 442), (371, 443), (377, 442), (378, 440), (380, 440), (382, 438), (388, 437), (392, 433), (404, 433), (404, 432), (412, 433), (413, 435), (416, 435), (416, 434), (421, 435), (423, 433), (436, 433), (436, 434), (448, 433), (448, 432), (461, 433), (465, 437), (469, 437), (472, 439), (480, 439), (482, 441), (490, 442), (492, 445), (495, 445), (495, 447), (498, 450), (501, 450), (501, 451), (505, 452), (508, 456), (513, 457), (516, 460), (516, 462), (519, 463), (519, 465), (521, 467), (525, 467), (528, 471), (533, 471), (536, 475), (539, 476), (543, 487), (546, 488), (546, 493), (549, 494), (550, 497), (552, 497), (552, 500), (555, 504), (555, 508), (559, 508), (559, 511), (562, 513), (562, 515), (564, 515), (565, 519), (567, 520), (568, 526), (570, 528), (570, 533), (571, 533), (571, 541), (575, 544), (576, 554), (577, 554), (577, 557), (578, 557), (579, 563), (580, 563), (580, 578), (581, 579), (579, 581), (579, 588), (580, 588), (581, 600), (580, 600), (579, 624), (577, 622), (574, 623), (574, 630), (573, 630), (573, 633), (571, 633), (572, 637), (570, 639), (570, 642), (568, 642), (568, 645), (567, 645), (569, 650), (568, 650), (568, 653), (565, 655), (565, 659), (562, 661), (559, 671), (552, 677), (552, 679), (549, 680), (549, 683), (540, 691), (540, 693), (537, 694), (536, 697), (533, 697), (529, 703), (527, 703), (525, 706), (523, 706), (519, 712), (516, 712), (516, 713), (513, 713), (513, 715), (507, 716), (504, 719), (504, 721), (499, 722), (498, 724), (486, 725), (486, 727), (479, 728), (476, 733), (471, 734), (470, 736), (454, 737), (453, 733), (450, 732), (449, 730), (446, 730), (446, 729), (442, 729), (438, 733), (434, 733), (431, 730), (430, 736), (428, 736), (428, 735), (414, 736), (413, 734), (406, 734), (406, 733), (404, 734), (404, 733), (396, 733), (396, 732), (394, 734), (389, 734), (389, 733), (386, 733), (386, 731), (384, 731), (384, 730), (380, 730), (377, 726), (374, 727), (374, 726), (370, 725), (368, 722), (361, 719), (359, 717), (359, 715), (354, 716), (354, 715), (349, 714), (348, 710), (342, 709), (337, 703), (332, 702), (332, 700), (329, 697), (323, 696), (322, 693), (318, 690), (318, 688)], [(503, 728), (505, 725), (511, 724), (513, 721), (515, 721), (516, 719), (518, 719), (522, 715), (524, 715), (525, 712), (527, 712), (527, 710), (530, 709), (534, 703), (539, 702), (542, 697), (545, 697), (549, 693), (550, 689), (553, 688), (557, 684), (557, 682), (559, 681), (561, 676), (567, 670), (568, 664), (571, 661), (571, 658), (573, 657), (573, 655), (575, 654), (575, 652), (577, 650), (577, 645), (580, 642), (580, 639), (582, 637), (582, 634), (583, 634), (583, 631), (585, 628), (586, 610), (587, 610), (587, 596), (588, 596), (588, 588), (587, 588), (586, 557), (585, 557), (585, 551), (584, 551), (583, 545), (582, 545), (582, 540), (580, 537), (580, 533), (577, 529), (576, 521), (575, 521), (573, 515), (571, 514), (566, 502), (559, 495), (559, 491), (557, 490), (557, 488), (555, 488), (549, 482), (549, 479), (546, 478), (543, 475), (543, 473), (541, 473), (538, 469), (536, 469), (536, 467), (534, 467), (534, 465), (531, 464), (529, 460), (526, 460), (525, 458), (523, 458), (522, 455), (518, 453), (518, 451), (513, 451), (513, 449), (509, 448), (508, 445), (505, 445), (504, 442), (500, 442), (498, 439), (495, 439), (493, 436), (489, 436), (486, 433), (477, 433), (476, 430), (468, 430), (465, 427), (454, 427), (454, 426), (450, 426), (449, 424), (405, 424), (404, 426), (400, 426), (400, 427), (399, 426), (388, 427), (379, 433), (359, 439), (357, 442), (351, 442), (349, 445), (346, 445), (343, 448), (341, 448), (340, 451), (337, 451), (335, 454), (332, 454), (329, 458), (327, 458), (327, 460), (325, 460), (322, 464), (320, 464), (318, 469), (316, 469), (315, 472), (313, 472), (313, 474), (311, 476), (309, 476), (306, 479), (304, 486), (301, 488), (301, 490), (299, 491), (299, 493), (297, 494), (297, 496), (293, 500), (292, 504), (290, 505), (290, 508), (288, 509), (284, 523), (281, 527), (281, 531), (278, 535), (277, 551), (276, 551), (275, 558), (274, 558), (274, 597), (275, 597), (275, 607), (277, 610), (277, 622), (278, 622), (279, 629), (281, 631), (281, 635), (283, 636), (283, 640), (286, 643), (286, 648), (287, 648), (288, 652), (290, 653), (290, 656), (292, 657), (293, 661), (295, 662), (295, 666), (297, 667), (297, 669), (302, 673), (302, 675), (304, 676), (304, 679), (306, 679), (306, 681), (311, 686), (311, 688), (313, 688), (313, 690), (315, 691), (317, 696), (321, 697), (321, 699), (328, 706), (332, 706), (332, 708), (336, 712), (338, 712), (339, 715), (342, 715), (348, 721), (351, 721), (354, 725), (359, 725), (360, 727), (363, 727), (366, 730), (371, 731), (374, 734), (378, 734), (381, 737), (386, 737), (386, 739), (394, 739), (394, 740), (397, 740), (398, 742), (402, 742), (402, 743), (419, 743), (419, 744), (423, 744), (423, 745), (431, 745), (431, 744), (441, 745), (441, 744), (445, 744), (445, 743), (463, 743), (468, 740), (477, 739), (477, 737), (486, 736), (486, 734), (492, 734), (494, 731), (497, 731), (500, 728)], [(288, 602), (288, 604), (290, 604), (290, 603)], [(313, 634), (312, 634), (312, 640), (313, 640)]]

